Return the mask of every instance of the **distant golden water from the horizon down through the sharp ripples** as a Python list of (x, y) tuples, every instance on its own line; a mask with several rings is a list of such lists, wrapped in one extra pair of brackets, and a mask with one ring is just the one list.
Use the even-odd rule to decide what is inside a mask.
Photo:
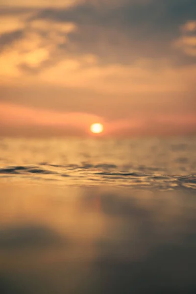
[(196, 189), (196, 137), (1, 139), (0, 176), (57, 185)]

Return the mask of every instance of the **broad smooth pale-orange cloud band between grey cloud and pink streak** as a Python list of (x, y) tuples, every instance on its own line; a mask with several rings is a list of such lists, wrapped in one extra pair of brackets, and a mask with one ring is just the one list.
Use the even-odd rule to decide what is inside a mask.
[(194, 66), (156, 69), (152, 61), (140, 60), (132, 67), (100, 68), (93, 58), (91, 62), (87, 66), (83, 58), (67, 59), (33, 76), (23, 74), (21, 79), (19, 74), (14, 82), (1, 86), (0, 100), (37, 109), (84, 112), (109, 121), (196, 111)]

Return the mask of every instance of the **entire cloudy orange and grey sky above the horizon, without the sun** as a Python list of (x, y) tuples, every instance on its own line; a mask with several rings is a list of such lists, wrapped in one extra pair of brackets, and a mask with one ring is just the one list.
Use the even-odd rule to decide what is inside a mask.
[(0, 136), (196, 133), (195, 0), (0, 0)]

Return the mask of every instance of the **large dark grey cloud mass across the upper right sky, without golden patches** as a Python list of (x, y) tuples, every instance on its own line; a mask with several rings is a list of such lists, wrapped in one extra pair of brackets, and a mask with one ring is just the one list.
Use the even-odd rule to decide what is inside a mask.
[[(95, 2), (84, 2), (69, 9), (46, 9), (35, 18), (78, 26), (69, 35), (71, 42), (65, 44), (66, 51), (94, 53), (104, 63), (131, 63), (140, 57), (174, 58), (177, 51), (171, 42), (179, 37), (180, 25), (196, 15), (195, 0), (152, 1), (148, 5), (133, 1), (123, 1), (120, 6), (112, 3), (99, 8)], [(182, 58), (187, 60), (179, 54), (175, 63), (183, 63)], [(189, 57), (187, 62), (193, 60)]]

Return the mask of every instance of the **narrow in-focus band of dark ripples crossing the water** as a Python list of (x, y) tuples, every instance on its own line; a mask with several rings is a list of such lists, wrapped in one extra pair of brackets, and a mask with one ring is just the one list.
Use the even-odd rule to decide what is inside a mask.
[[(43, 168), (44, 166), (44, 168)], [(39, 177), (35, 175), (39, 174)], [(0, 168), (0, 177), (30, 177), (32, 180), (56, 180), (71, 185), (116, 185), (151, 189), (196, 189), (196, 175), (162, 175), (142, 172), (121, 172), (116, 165), (48, 165), (8, 166)]]

